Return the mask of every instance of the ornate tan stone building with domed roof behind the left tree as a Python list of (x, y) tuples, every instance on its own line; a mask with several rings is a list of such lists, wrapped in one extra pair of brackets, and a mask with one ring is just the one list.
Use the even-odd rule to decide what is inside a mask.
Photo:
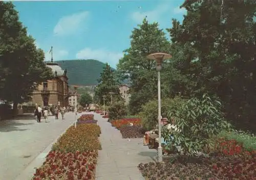
[(64, 71), (57, 63), (53, 62), (47, 63), (47, 66), (52, 69), (54, 78), (39, 84), (37, 90), (33, 91), (33, 104), (41, 105), (41, 107), (69, 106), (67, 69)]

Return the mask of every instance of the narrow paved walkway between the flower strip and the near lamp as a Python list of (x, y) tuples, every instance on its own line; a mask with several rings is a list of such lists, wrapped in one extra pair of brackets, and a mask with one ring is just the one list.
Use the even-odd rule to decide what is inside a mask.
[(143, 139), (122, 139), (119, 130), (111, 126), (107, 119), (94, 115), (101, 127), (96, 180), (142, 180), (139, 163), (153, 161), (157, 151), (143, 146)]

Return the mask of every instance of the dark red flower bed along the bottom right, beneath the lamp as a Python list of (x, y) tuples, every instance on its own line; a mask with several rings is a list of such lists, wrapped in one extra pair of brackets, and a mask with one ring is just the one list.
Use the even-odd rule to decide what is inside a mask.
[(218, 140), (209, 157), (185, 160), (173, 156), (165, 164), (141, 163), (138, 167), (146, 179), (256, 179), (255, 151), (244, 151), (234, 140)]

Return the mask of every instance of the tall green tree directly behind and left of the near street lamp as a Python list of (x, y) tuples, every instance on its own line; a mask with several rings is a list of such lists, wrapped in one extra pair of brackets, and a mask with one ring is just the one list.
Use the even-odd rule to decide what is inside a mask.
[(131, 47), (124, 50), (117, 69), (123, 79), (131, 80), (130, 110), (132, 114), (141, 111), (142, 105), (157, 97), (156, 63), (148, 60), (147, 55), (157, 52), (169, 53), (169, 42), (158, 23), (149, 23), (146, 19), (131, 35)]

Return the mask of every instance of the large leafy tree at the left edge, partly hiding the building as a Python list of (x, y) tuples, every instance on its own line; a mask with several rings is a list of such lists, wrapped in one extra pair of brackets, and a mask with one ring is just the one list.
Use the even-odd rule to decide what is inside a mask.
[(44, 63), (44, 52), (19, 21), (11, 2), (0, 2), (0, 98), (17, 104), (29, 100), (38, 83), (51, 79), (51, 69)]

